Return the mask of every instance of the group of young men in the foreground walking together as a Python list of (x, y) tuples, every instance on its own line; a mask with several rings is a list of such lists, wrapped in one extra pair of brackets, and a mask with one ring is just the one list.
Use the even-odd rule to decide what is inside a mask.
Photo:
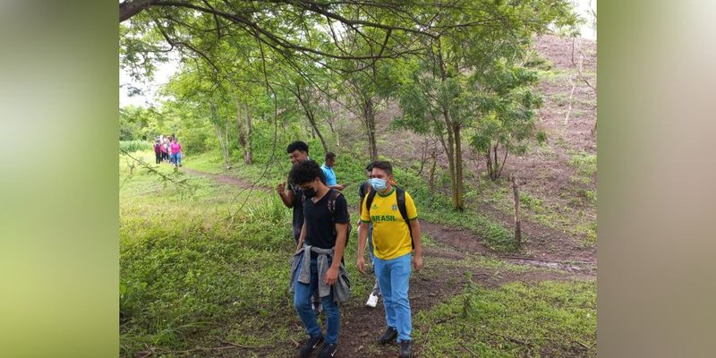
[[(286, 149), (292, 163), (287, 183), (277, 193), (293, 209), (296, 252), (291, 260), (290, 288), (294, 307), (308, 339), (299, 355), (308, 357), (319, 347), (319, 358), (337, 352), (340, 329), (339, 303), (350, 297), (344, 252), (351, 224), (348, 205), (337, 183), (336, 155), (328, 152), (323, 166), (311, 160), (308, 144), (294, 141)], [(421, 229), (413, 198), (396, 186), (393, 166), (374, 161), (365, 168), (367, 180), (358, 191), (358, 270), (365, 274), (366, 246), (371, 255), (375, 285), (366, 305), (376, 307), (383, 298), (386, 328), (377, 338), (382, 345), (397, 342), (398, 356), (412, 355), (412, 316), (408, 290), (413, 270), (422, 269)], [(412, 266), (412, 267), (411, 267)], [(317, 317), (326, 317), (326, 334)]]

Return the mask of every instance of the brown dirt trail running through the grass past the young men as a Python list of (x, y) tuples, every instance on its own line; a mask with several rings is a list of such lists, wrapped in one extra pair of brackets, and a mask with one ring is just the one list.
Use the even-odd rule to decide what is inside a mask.
[[(251, 183), (222, 174), (209, 174), (194, 169), (183, 168), (190, 175), (209, 177), (218, 183), (237, 185), (250, 188)], [(268, 186), (255, 188), (272, 192)], [(496, 209), (488, 208), (491, 217), (495, 217), (507, 226), (511, 217)], [(504, 256), (496, 254), (482, 243), (482, 238), (472, 231), (461, 227), (446, 226), (421, 221), (422, 230), (434, 238), (441, 247), (426, 248), (423, 252), (424, 268), (421, 273), (413, 273), (410, 283), (410, 304), (413, 315), (423, 310), (430, 310), (436, 304), (459, 294), (467, 284), (467, 273), (472, 275), (473, 283), (481, 286), (498, 287), (509, 282), (534, 282), (542, 280), (593, 279), (596, 277), (596, 250), (581, 247), (575, 239), (540, 226), (525, 222), (524, 234), (532, 240), (525, 243), (527, 255), (524, 257)], [(529, 265), (535, 269), (524, 273), (509, 270), (495, 271), (489, 268), (468, 267), (465, 265), (449, 266), (439, 264), (436, 259), (461, 261), (470, 256), (487, 256), (506, 260), (507, 262)], [(553, 268), (553, 269), (544, 269)], [(354, 273), (354, 275), (360, 275)], [(357, 278), (357, 277), (356, 277)], [(354, 279), (356, 279), (354, 278)], [(371, 279), (371, 277), (362, 277)], [(397, 345), (377, 345), (376, 338), (385, 328), (385, 313), (382, 301), (376, 308), (364, 306), (367, 297), (354, 297), (351, 302), (342, 306), (341, 333), (337, 356), (343, 357), (395, 357)], [(296, 329), (303, 329), (296, 327)], [(293, 344), (293, 343), (287, 343)], [(413, 346), (413, 356), (420, 356), (421, 346)], [(255, 352), (268, 354), (272, 352)]]

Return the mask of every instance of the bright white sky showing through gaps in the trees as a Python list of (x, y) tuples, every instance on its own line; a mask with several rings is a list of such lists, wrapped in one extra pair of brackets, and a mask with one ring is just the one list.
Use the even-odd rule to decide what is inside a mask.
[[(573, 0), (572, 4), (575, 6), (576, 12), (587, 18), (590, 6), (596, 11), (597, 0)], [(593, 30), (589, 23), (584, 24), (581, 27), (582, 37), (589, 39), (596, 39), (597, 32)], [(119, 69), (119, 107), (128, 105), (134, 105), (139, 107), (150, 107), (153, 104), (158, 103), (156, 97), (158, 88), (165, 84), (174, 75), (179, 68), (179, 61), (175, 57), (173, 60), (168, 61), (164, 64), (158, 64), (157, 71), (154, 74), (154, 79), (149, 83), (140, 83), (134, 81), (130, 75), (123, 69)], [(123, 88), (123, 85), (130, 85), (132, 87), (139, 88), (144, 91), (141, 96), (128, 96), (127, 90)]]

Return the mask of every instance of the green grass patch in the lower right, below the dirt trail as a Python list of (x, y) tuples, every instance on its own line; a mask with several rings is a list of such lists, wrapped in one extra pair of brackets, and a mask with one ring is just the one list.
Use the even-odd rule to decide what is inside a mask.
[(594, 281), (471, 286), (414, 317), (413, 346), (429, 357), (596, 356), (596, 323)]

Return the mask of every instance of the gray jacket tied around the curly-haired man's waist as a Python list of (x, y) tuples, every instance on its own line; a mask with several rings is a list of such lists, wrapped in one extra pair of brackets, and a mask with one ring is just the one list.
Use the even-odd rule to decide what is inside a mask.
[[(323, 277), (328, 272), (328, 258), (333, 258), (333, 249), (321, 249), (313, 247), (311, 245), (303, 245), (303, 248), (298, 252), (294, 253), (291, 257), (291, 283), (289, 285), (289, 291), (294, 292), (294, 285), (296, 281), (296, 275), (298, 275), (298, 282), (302, 284), (311, 284), (311, 251), (318, 254), (316, 263), (318, 264), (318, 288), (319, 296), (325, 297), (330, 294), (331, 286), (326, 285), (323, 281)], [(307, 260), (301, 260), (303, 254)], [(301, 261), (301, 266), (298, 265)], [(333, 285), (333, 301), (337, 303), (345, 303), (351, 297), (351, 281), (348, 278), (348, 272), (345, 270), (343, 262), (338, 267), (338, 278), (336, 283)]]

